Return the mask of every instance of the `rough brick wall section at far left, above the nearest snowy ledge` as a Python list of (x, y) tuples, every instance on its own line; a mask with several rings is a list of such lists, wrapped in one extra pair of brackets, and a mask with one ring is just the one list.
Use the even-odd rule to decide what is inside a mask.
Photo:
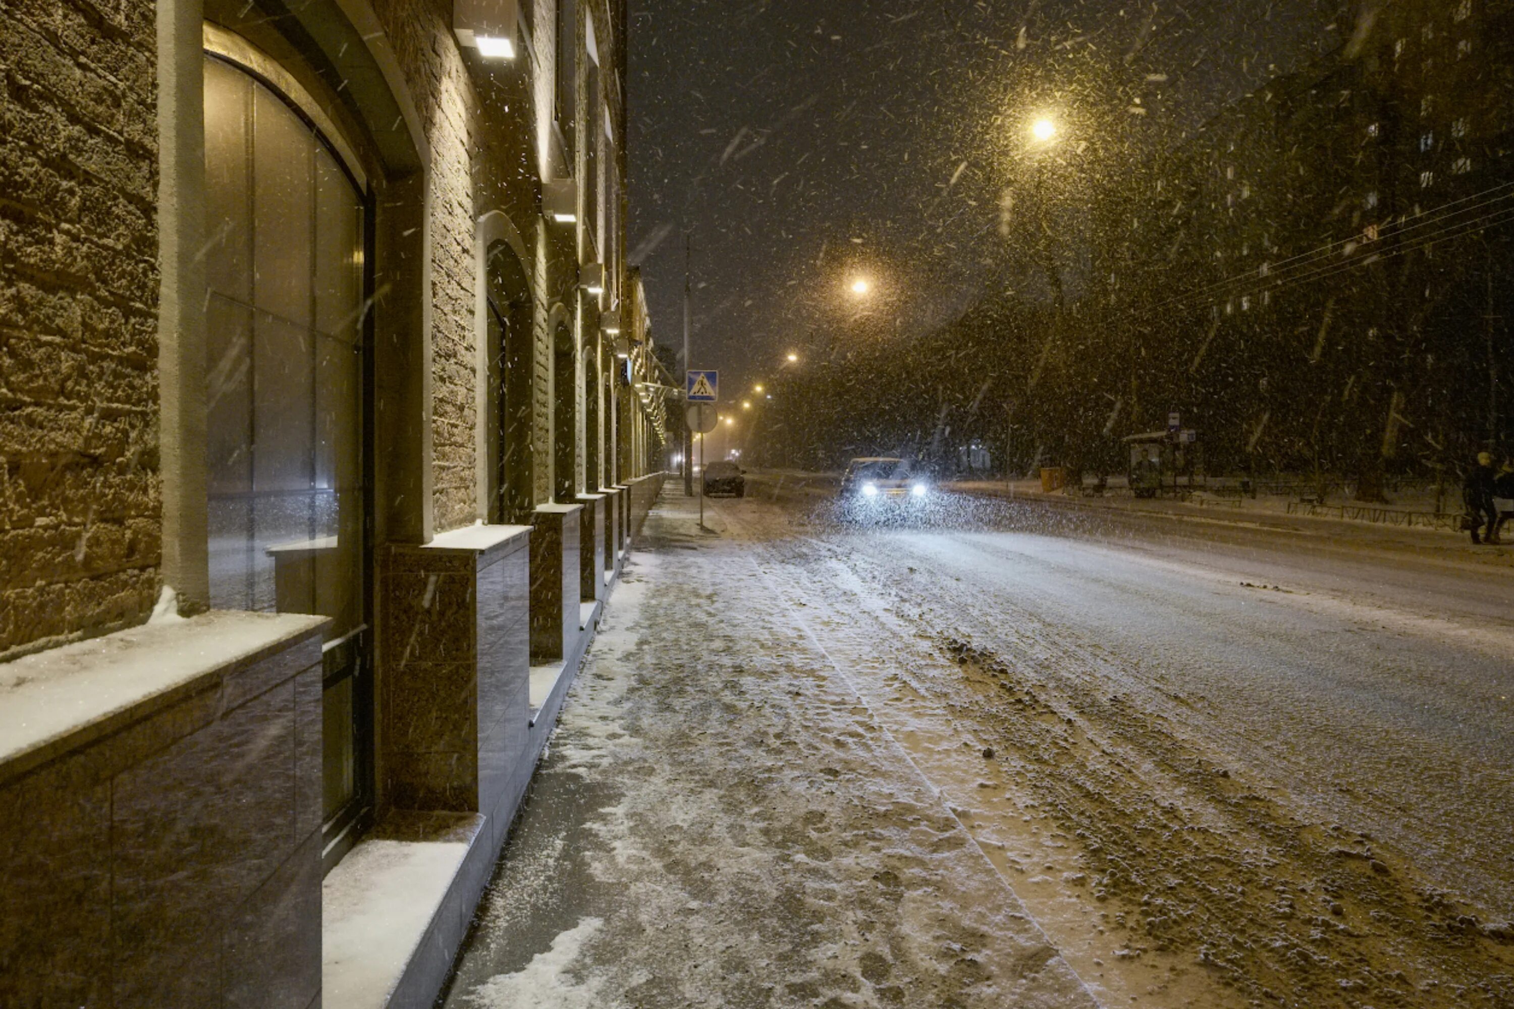
[(154, 18), (0, 3), (0, 660), (156, 595)]

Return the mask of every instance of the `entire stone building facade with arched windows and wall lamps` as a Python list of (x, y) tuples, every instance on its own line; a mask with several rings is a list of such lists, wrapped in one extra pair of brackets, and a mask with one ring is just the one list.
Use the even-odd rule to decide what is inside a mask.
[(662, 483), (625, 3), (8, 15), (0, 1004), (430, 1004)]

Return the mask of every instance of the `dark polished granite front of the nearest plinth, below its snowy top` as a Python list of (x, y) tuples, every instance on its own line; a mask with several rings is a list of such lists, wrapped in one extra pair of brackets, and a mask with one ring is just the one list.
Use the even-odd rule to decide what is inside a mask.
[[(321, 834), (298, 805), (321, 790), (312, 661), (315, 634), (0, 773), (0, 1006), (310, 1003)], [(286, 1000), (236, 1000), (235, 976), (244, 992), (303, 980)]]

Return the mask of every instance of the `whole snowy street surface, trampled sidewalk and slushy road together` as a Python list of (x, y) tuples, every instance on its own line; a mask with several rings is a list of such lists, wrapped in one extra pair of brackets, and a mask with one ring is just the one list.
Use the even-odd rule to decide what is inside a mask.
[(650, 517), (448, 1006), (1514, 1004), (1506, 555), (706, 507)]

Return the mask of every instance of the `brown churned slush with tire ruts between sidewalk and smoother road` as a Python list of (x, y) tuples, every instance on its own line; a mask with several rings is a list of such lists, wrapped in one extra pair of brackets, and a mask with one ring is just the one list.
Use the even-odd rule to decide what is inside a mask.
[[(725, 517), (733, 520), (730, 511)], [(796, 601), (805, 611), (866, 611), (881, 628), (872, 641), (851, 635), (851, 647), (864, 657), (868, 649), (877, 655), (887, 637), (895, 638), (887, 661), (875, 663), (871, 675), (858, 673), (866, 679), (858, 693), (878, 697), (881, 690), (895, 691), (874, 709), (880, 723), (893, 723), (913, 755), (939, 758), (925, 771), (933, 784), (940, 787), (951, 765), (964, 762), (961, 749), (951, 756), (943, 738), (949, 729), (924, 738), (908, 728), (899, 717), (904, 708), (936, 706), (937, 723), (995, 743), (995, 764), (1019, 793), (1026, 815), (1055, 821), (1060, 830), (1037, 835), (1040, 847), (1025, 846), (1023, 832), (1010, 834), (1005, 843), (1033, 855), (1066, 846), (1058, 861), (1066, 865), (1070, 855), (1079, 870), (1066, 873), (1060, 888), (1057, 880), (1028, 879), (1022, 889), (1048, 889), (1051, 883), (1054, 891), (1045, 902), (1030, 897), (1033, 912), (1049, 908), (1055, 914), (1067, 888), (1081, 886), (1084, 941), (1092, 921), (1099, 923), (1095, 930), (1108, 926), (1107, 933), (1125, 936), (1116, 956), (1123, 950), (1126, 962), (1202, 964), (1204, 974), (1229, 988), (1238, 1004), (1514, 1004), (1514, 935), (1506, 926), (1481, 923), (1372, 837), (1338, 823), (1297, 818), (1264, 771), (1228, 767), (1229, 761), (1216, 759), (1213, 749), (1187, 731), (1181, 711), (1169, 716), (1154, 709), (1149, 697), (1131, 696), (1131, 678), (1101, 649), (1037, 620), (1028, 632), (999, 635), (995, 647), (1001, 652), (995, 654), (964, 640), (960, 620), (949, 619), (967, 591), (954, 587), (954, 575), (911, 567), (934, 582), (934, 604), (921, 602), (921, 593), (911, 599), (898, 591), (898, 567), (905, 564), (901, 554), (908, 555), (908, 543), (901, 549), (889, 542), (887, 555), (880, 558), (875, 549), (848, 554), (846, 543), (792, 531), (759, 539), (751, 536), (749, 522), (740, 525), (760, 555), (783, 572), (790, 607)], [(864, 581), (869, 566), (878, 569), (871, 585)], [(855, 584), (845, 584), (837, 567)], [(765, 570), (765, 578), (769, 584), (778, 579), (774, 570)], [(816, 605), (816, 599), (822, 602)], [(899, 610), (916, 614), (901, 617)], [(911, 619), (924, 622), (913, 631), (924, 629), (927, 641), (916, 637), (899, 647), (898, 641), (911, 640)], [(813, 628), (810, 634), (816, 634)], [(827, 635), (828, 652), (846, 637), (836, 628), (827, 628)], [(1002, 650), (1005, 643), (1008, 652)], [(907, 660), (921, 666), (889, 673), (889, 666)], [(945, 660), (955, 670), (943, 670)], [(1169, 711), (1181, 706), (1181, 699), (1166, 700)], [(917, 711), (910, 717), (919, 720)], [(910, 732), (922, 738), (910, 740)], [(1001, 812), (992, 824), (989, 817), (958, 812), (958, 818), (995, 861), (995, 835), (1011, 817)], [(1069, 929), (1078, 932), (1073, 914), (1055, 921), (1070, 921)], [(1055, 927), (1052, 938), (1063, 938)], [(1066, 942), (1063, 948), (1067, 953)], [(1089, 958), (1073, 950), (1070, 962), (1078, 965), (1079, 959)], [(1128, 964), (1119, 970), (1149, 976)], [(1176, 989), (1154, 994), (1160, 1000), (1182, 997)]]

